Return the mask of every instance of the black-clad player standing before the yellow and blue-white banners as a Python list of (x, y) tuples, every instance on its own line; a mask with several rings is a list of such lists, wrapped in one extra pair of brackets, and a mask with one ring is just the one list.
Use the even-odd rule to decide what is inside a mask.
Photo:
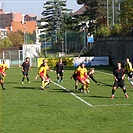
[(57, 82), (63, 82), (64, 64), (62, 63), (62, 58), (55, 66), (55, 72), (57, 74)]

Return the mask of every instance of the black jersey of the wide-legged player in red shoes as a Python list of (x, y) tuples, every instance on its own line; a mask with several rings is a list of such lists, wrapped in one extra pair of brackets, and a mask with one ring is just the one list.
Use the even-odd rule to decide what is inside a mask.
[(118, 81), (122, 80), (124, 74), (125, 74), (124, 68), (121, 69), (115, 68), (113, 71), (113, 75), (118, 79)]

